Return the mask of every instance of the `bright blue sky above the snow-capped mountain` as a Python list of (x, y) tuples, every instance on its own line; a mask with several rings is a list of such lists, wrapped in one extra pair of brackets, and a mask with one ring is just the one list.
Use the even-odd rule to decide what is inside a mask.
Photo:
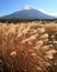
[(0, 17), (19, 11), (25, 6), (57, 14), (57, 0), (0, 0)]

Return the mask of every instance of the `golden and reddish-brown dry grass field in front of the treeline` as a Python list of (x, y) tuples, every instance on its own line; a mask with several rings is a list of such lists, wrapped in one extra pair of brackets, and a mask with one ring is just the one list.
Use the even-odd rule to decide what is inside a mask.
[(0, 22), (0, 72), (57, 72), (57, 23)]

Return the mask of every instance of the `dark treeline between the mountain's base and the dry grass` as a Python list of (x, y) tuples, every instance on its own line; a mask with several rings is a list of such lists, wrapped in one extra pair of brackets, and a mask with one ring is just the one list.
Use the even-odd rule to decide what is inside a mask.
[(18, 23), (18, 22), (32, 22), (32, 21), (42, 21), (42, 22), (52, 22), (52, 21), (54, 21), (54, 22), (56, 22), (57, 23), (57, 19), (21, 19), (21, 20), (19, 20), (19, 19), (0, 19), (0, 22), (8, 22), (8, 23), (11, 23), (11, 22), (13, 22), (13, 23)]

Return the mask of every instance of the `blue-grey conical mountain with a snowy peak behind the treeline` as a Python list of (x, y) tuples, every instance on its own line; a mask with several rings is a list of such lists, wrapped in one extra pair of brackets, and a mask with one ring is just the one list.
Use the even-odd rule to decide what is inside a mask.
[(16, 11), (12, 14), (2, 17), (1, 19), (54, 19), (53, 16), (48, 16), (39, 10), (36, 9), (29, 9), (29, 10), (21, 10), (21, 11)]

